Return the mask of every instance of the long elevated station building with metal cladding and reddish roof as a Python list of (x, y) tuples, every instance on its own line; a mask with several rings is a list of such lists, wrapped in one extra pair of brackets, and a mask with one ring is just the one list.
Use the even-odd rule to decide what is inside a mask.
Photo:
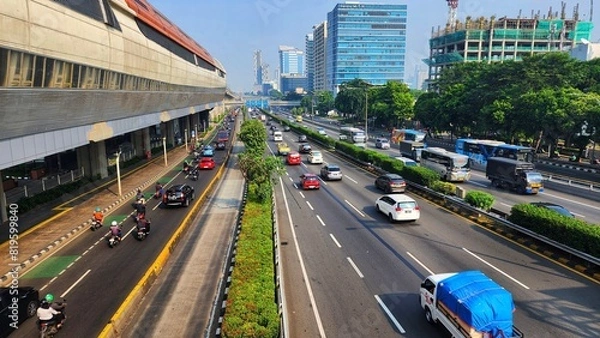
[(3, 179), (40, 159), (106, 177), (122, 144), (173, 145), (233, 98), (223, 65), (147, 0), (5, 0), (0, 22)]

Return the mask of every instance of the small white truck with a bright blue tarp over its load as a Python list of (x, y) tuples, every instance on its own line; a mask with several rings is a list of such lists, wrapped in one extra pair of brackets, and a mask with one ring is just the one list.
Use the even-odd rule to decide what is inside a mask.
[(513, 325), (512, 294), (481, 271), (431, 275), (421, 283), (420, 303), (428, 322), (452, 338), (520, 338)]

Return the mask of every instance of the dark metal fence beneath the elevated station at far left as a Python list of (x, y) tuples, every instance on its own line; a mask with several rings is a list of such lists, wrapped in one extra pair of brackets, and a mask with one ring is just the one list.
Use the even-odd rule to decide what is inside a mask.
[(80, 180), (85, 176), (83, 167), (62, 174), (43, 177), (40, 180), (21, 179), (16, 180), (17, 186), (5, 192), (6, 202), (15, 203), (22, 197), (31, 197), (46, 190), (56, 188), (59, 185)]

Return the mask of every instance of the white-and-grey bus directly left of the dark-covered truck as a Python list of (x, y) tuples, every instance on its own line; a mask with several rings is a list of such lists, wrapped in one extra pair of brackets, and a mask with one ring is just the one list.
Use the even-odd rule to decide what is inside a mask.
[(421, 166), (429, 168), (448, 182), (464, 182), (471, 177), (469, 156), (432, 147), (421, 151)]

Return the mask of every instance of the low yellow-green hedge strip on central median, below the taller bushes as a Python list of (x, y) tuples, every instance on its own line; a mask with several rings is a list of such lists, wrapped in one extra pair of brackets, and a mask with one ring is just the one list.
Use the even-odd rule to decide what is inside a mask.
[(256, 202), (255, 189), (249, 184), (221, 327), (226, 338), (279, 337), (271, 201)]

